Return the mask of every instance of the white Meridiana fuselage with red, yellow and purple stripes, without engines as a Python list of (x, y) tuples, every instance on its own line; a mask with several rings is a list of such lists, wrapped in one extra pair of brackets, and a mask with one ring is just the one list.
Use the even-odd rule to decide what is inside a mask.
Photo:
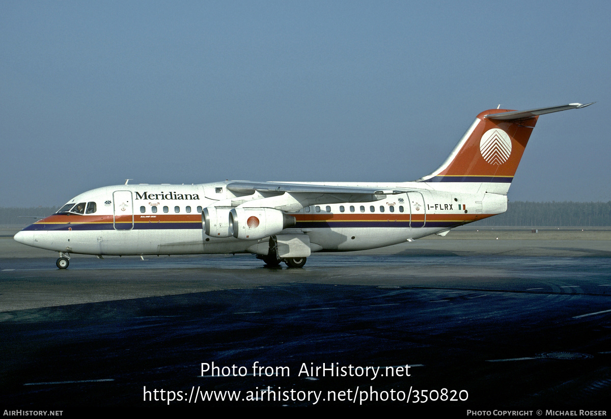
[[(342, 185), (355, 184), (334, 184)], [(207, 236), (203, 232), (203, 208), (222, 200), (244, 198), (226, 186), (227, 182), (93, 189), (71, 199), (62, 209), (70, 205), (72, 208), (35, 222), (15, 239), (56, 252), (90, 255), (251, 253), (249, 248), (268, 238), (243, 240)], [(385, 195), (373, 202), (309, 205), (290, 211), (296, 224), (288, 233), (309, 236), (312, 252), (373, 249), (439, 233), (507, 208), (505, 195), (491, 198), (485, 195), (492, 194), (434, 191), (412, 182), (392, 186), (406, 192)]]

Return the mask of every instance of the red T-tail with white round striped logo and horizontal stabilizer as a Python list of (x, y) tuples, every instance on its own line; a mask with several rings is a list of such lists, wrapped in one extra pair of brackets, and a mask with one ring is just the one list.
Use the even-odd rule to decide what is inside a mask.
[(431, 185), (437, 190), (506, 195), (539, 115), (590, 104), (481, 112), (444, 164), (418, 181), (437, 183)]

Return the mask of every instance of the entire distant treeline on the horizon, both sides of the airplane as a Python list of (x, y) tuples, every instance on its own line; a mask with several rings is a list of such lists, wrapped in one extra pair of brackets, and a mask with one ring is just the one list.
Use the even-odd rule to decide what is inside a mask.
[[(524, 202), (511, 201), (507, 212), (477, 222), (477, 225), (507, 227), (608, 227), (611, 226), (610, 202)], [(0, 224), (28, 224), (45, 217), (57, 208), (0, 207)]]

